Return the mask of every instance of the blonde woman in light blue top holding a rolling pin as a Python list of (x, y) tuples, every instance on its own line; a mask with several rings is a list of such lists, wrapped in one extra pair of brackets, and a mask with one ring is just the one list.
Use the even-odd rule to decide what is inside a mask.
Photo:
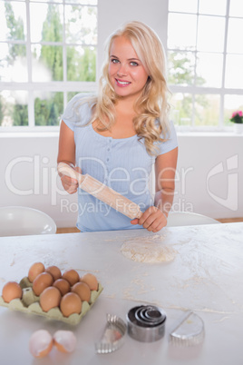
[[(79, 189), (77, 227), (81, 232), (145, 228), (167, 224), (178, 156), (176, 133), (168, 121), (165, 57), (158, 36), (141, 22), (111, 35), (98, 96), (77, 94), (63, 113), (57, 162), (89, 173), (140, 205), (130, 220)], [(154, 201), (149, 191), (155, 167)], [(74, 167), (75, 166), (75, 167)], [(63, 188), (78, 182), (61, 174)]]

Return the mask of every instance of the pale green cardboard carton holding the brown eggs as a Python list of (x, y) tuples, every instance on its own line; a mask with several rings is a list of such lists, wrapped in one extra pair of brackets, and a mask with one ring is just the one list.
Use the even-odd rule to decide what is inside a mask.
[(34, 295), (34, 291), (32, 290), (32, 283), (28, 280), (27, 277), (24, 277), (19, 282), (23, 295), (22, 299), (14, 299), (9, 303), (6, 303), (2, 296), (0, 296), (0, 305), (3, 307), (7, 307), (10, 310), (14, 311), (23, 311), (24, 313), (37, 314), (40, 316), (44, 316), (45, 318), (49, 318), (56, 321), (63, 321), (69, 324), (76, 325), (78, 324), (85, 314), (91, 310), (92, 305), (97, 301), (97, 298), (101, 294), (103, 288), (102, 284), (99, 282), (98, 290), (91, 292), (91, 300), (89, 302), (82, 301), (82, 311), (80, 314), (73, 313), (69, 317), (64, 317), (63, 313), (59, 308), (55, 307), (50, 311), (43, 311), (40, 306), (40, 297)]

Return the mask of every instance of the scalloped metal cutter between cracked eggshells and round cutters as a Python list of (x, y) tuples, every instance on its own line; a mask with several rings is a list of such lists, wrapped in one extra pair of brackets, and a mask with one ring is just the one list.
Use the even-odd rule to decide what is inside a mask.
[(126, 323), (116, 315), (107, 314), (107, 323), (100, 342), (95, 343), (97, 353), (110, 353), (121, 348), (127, 330)]

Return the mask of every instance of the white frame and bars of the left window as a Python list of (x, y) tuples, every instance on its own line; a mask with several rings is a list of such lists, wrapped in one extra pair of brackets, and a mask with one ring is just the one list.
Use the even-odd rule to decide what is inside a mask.
[[(65, 109), (67, 103), (68, 103), (68, 96), (67, 94), (69, 92), (87, 92), (87, 93), (93, 93), (97, 89), (97, 78), (98, 78), (98, 60), (97, 60), (97, 49), (98, 49), (98, 41), (97, 44), (73, 44), (73, 43), (67, 43), (66, 37), (65, 37), (65, 19), (63, 14), (63, 41), (62, 42), (31, 42), (31, 34), (30, 34), (30, 4), (46, 4), (46, 5), (79, 5), (79, 6), (89, 6), (89, 7), (95, 7), (97, 10), (97, 28), (98, 28), (98, 1), (96, 5), (89, 4), (89, 0), (87, 0), (83, 4), (77, 4), (75, 2), (68, 2), (65, 0), (55, 0), (54, 2), (51, 2), (50, 0), (42, 1), (42, 0), (2, 0), (2, 2), (5, 3), (12, 3), (13, 1), (24, 3), (26, 8), (26, 39), (25, 40), (0, 40), (0, 46), (1, 44), (10, 43), (10, 44), (24, 44), (26, 46), (26, 62), (28, 65), (28, 80), (26, 82), (1, 82), (0, 81), (0, 92), (2, 91), (26, 91), (28, 92), (28, 125), (15, 125), (15, 126), (1, 126), (0, 125), (0, 133), (28, 133), (28, 132), (57, 132), (59, 131), (60, 126), (59, 125), (35, 125), (34, 124), (34, 91), (38, 90), (40, 92), (62, 92), (63, 93), (63, 110)], [(98, 38), (98, 35), (97, 35)], [(63, 47), (63, 81), (51, 81), (51, 82), (33, 82), (32, 81), (32, 45), (33, 44), (41, 44), (41, 45), (61, 45)], [(95, 82), (87, 82), (87, 81), (80, 81), (80, 82), (73, 82), (73, 81), (67, 81), (67, 63), (66, 63), (66, 48), (67, 46), (83, 46), (83, 47), (93, 47), (96, 49), (96, 81)], [(60, 116), (60, 122), (61, 122), (61, 116)]]

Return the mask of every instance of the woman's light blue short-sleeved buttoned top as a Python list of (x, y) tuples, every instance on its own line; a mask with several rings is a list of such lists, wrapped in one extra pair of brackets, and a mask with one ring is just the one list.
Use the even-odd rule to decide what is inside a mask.
[[(96, 133), (92, 124), (91, 105), (74, 105), (81, 99), (77, 94), (67, 105), (62, 119), (73, 131), (75, 141), (76, 165), (82, 173), (110, 186), (116, 192), (140, 205), (141, 211), (153, 205), (149, 191), (149, 177), (155, 156), (147, 153), (145, 145), (137, 135), (114, 139)], [(173, 123), (170, 125), (170, 138), (160, 143), (160, 153), (168, 153), (178, 145)], [(81, 232), (131, 230), (142, 228), (131, 224), (131, 219), (117, 212), (83, 190), (78, 190), (78, 221)]]

